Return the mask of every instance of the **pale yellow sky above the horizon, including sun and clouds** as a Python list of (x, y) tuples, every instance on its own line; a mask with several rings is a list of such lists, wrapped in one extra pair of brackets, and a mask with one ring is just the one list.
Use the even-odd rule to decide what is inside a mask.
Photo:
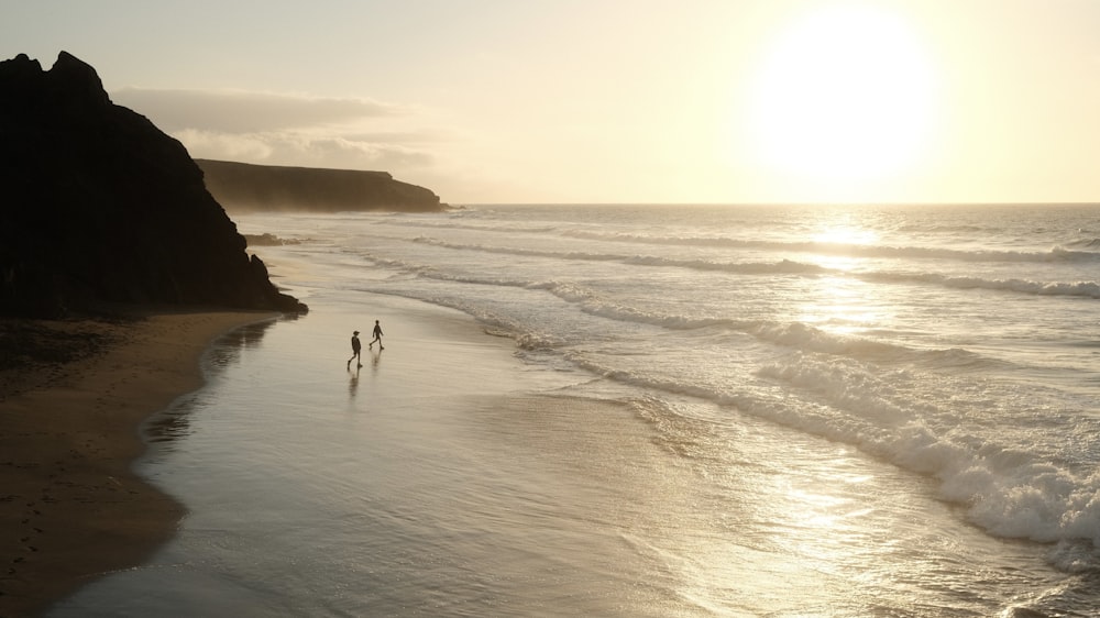
[(0, 0), (193, 157), (448, 203), (1100, 201), (1096, 0)]

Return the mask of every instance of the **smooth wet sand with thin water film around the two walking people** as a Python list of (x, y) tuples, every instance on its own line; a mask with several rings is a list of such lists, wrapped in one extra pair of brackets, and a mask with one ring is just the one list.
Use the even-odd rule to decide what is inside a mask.
[(678, 526), (693, 493), (629, 406), (574, 397), (578, 376), (530, 371), (453, 309), (294, 293), (308, 316), (219, 338), (204, 387), (145, 426), (136, 470), (187, 506), (176, 533), (45, 616), (675, 610), (648, 552), (608, 533)]

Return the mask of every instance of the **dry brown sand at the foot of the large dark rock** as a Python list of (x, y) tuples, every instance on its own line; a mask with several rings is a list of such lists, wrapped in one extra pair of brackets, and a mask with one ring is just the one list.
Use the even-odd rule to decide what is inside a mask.
[(275, 317), (139, 309), (9, 322), (54, 329), (66, 350), (12, 357), (0, 372), (0, 618), (40, 615), (172, 538), (185, 508), (134, 471), (147, 449), (141, 428), (202, 386), (201, 358), (219, 336)]

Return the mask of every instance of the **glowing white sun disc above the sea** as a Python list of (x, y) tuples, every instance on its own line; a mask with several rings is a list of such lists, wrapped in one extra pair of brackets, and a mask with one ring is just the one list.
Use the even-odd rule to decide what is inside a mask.
[(765, 162), (836, 187), (886, 180), (924, 154), (935, 75), (898, 16), (860, 7), (804, 15), (762, 58), (751, 131)]

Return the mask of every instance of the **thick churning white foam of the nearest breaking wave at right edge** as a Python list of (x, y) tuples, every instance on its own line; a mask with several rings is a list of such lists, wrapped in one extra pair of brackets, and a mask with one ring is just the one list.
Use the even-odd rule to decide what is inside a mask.
[[(1064, 457), (1024, 450), (1031, 440), (1001, 442), (1000, 430), (978, 433), (971, 423), (959, 423), (957, 415), (966, 407), (978, 411), (990, 394), (978, 390), (959, 393), (948, 408), (927, 399), (920, 384), (909, 384), (905, 376), (890, 375), (890, 383), (838, 366), (835, 363), (799, 358), (787, 365), (771, 365), (760, 375), (806, 391), (827, 406), (844, 410), (837, 419), (826, 413), (788, 412), (782, 419), (799, 429), (851, 443), (865, 452), (883, 457), (906, 470), (935, 476), (941, 495), (967, 506), (969, 519), (1000, 537), (1024, 538), (1041, 542), (1075, 543), (1088, 541), (1100, 549), (1100, 471), (1075, 468)], [(961, 386), (960, 386), (961, 388)], [(813, 408), (810, 408), (811, 410)], [(767, 407), (749, 411), (770, 415)], [(988, 415), (998, 427), (998, 413)], [(972, 419), (971, 419), (972, 420)], [(1036, 418), (1036, 423), (1043, 420)], [(1100, 428), (1088, 429), (1085, 421), (1077, 431), (1081, 437)], [(1094, 423), (1093, 423), (1094, 424)], [(1010, 443), (1020, 445), (1009, 445)], [(1057, 451), (1050, 451), (1057, 453)], [(1080, 556), (1077, 556), (1078, 559)], [(1100, 554), (1062, 566), (1096, 567)]]

